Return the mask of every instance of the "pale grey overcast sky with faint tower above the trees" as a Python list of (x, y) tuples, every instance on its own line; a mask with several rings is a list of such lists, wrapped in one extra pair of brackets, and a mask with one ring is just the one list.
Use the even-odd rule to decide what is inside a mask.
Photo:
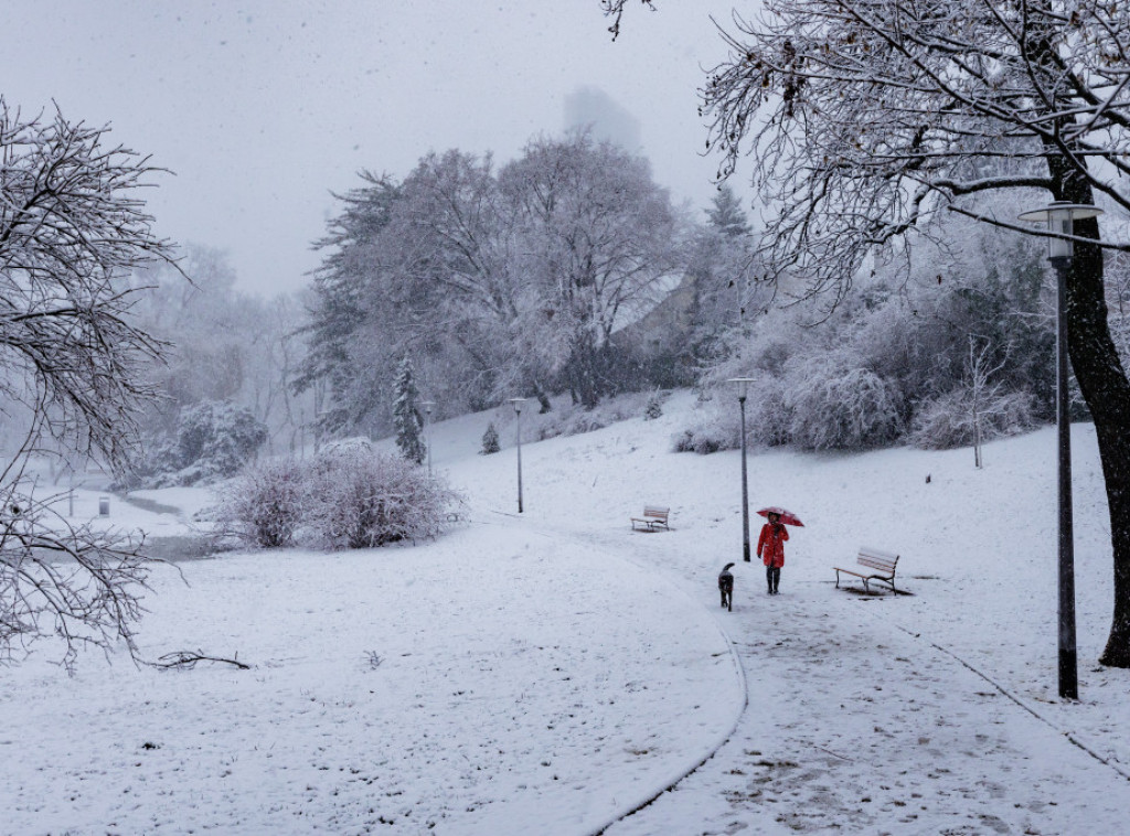
[(308, 284), (358, 171), (401, 178), (447, 148), (503, 163), (589, 113), (705, 207), (697, 90), (732, 0), (635, 6), (612, 43), (599, 0), (2, 0), (0, 95), (110, 123), (174, 173), (147, 195), (158, 233), (271, 294)]

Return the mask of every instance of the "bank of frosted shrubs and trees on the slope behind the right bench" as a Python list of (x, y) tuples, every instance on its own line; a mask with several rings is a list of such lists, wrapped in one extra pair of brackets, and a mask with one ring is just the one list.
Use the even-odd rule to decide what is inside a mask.
[[(950, 219), (959, 253), (877, 265), (832, 312), (774, 308), (724, 345), (706, 391), (754, 377), (749, 439), (806, 450), (979, 444), (1054, 416), (1054, 288), (1032, 242)], [(820, 316), (818, 326), (814, 316)], [(1083, 404), (1079, 404), (1083, 409)], [(680, 446), (738, 444), (724, 412)]]

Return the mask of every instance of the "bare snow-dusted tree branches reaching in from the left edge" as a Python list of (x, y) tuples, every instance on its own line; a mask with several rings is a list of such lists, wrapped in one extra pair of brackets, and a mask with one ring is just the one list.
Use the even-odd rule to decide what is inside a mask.
[(24, 430), (0, 467), (0, 658), (46, 636), (68, 665), (84, 647), (136, 650), (142, 545), (72, 526), (25, 477), (49, 439), (127, 469), (154, 395), (162, 347), (131, 321), (127, 277), (171, 249), (138, 197), (157, 169), (108, 131), (0, 97), (0, 402)]

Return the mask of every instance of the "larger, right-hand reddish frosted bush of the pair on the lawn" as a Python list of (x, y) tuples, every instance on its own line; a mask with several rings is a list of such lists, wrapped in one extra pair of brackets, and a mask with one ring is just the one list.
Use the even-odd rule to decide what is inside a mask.
[(458, 495), (414, 462), (372, 452), (319, 456), (308, 477), (304, 521), (331, 549), (364, 549), (435, 537)]

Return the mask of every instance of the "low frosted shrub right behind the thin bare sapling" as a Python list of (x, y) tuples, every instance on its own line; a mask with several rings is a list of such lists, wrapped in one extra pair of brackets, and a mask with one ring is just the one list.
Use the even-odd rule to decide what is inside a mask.
[[(1006, 392), (980, 410), (981, 441), (1025, 433), (1035, 426), (1034, 400), (1028, 392)], [(921, 450), (951, 450), (976, 441), (970, 394), (954, 390), (921, 404), (914, 415), (910, 442)]]

